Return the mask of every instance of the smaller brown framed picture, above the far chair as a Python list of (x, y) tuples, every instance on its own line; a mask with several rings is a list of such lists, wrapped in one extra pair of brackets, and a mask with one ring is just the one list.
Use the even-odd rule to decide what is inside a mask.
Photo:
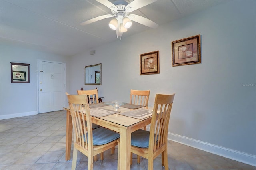
[(140, 75), (159, 73), (159, 51), (140, 54)]

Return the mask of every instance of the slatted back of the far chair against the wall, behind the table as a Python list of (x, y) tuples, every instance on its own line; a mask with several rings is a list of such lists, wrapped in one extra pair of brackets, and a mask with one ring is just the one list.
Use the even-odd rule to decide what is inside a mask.
[(131, 90), (130, 104), (148, 106), (150, 90)]

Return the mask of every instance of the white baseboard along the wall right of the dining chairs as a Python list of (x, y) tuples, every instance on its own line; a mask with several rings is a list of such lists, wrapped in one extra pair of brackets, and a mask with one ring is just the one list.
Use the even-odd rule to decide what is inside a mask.
[(187, 138), (185, 136), (180, 136), (173, 133), (168, 133), (168, 140), (172, 140), (193, 148), (204, 150), (225, 158), (236, 160), (238, 162), (243, 162), (252, 166), (256, 166), (256, 155), (246, 154), (244, 152), (232, 150), (229, 148), (224, 148), (222, 146), (217, 146), (214, 144), (202, 142), (200, 140), (195, 140), (192, 138)]

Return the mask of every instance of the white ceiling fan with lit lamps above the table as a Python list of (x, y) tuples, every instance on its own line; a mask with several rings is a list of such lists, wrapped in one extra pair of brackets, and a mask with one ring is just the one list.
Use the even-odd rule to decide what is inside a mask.
[[(127, 31), (127, 28), (132, 26), (132, 21), (138, 22), (150, 28), (158, 27), (158, 24), (145, 18), (143, 16), (139, 16), (136, 14), (130, 14), (130, 12), (142, 8), (148, 4), (151, 4), (157, 0), (134, 0), (130, 3), (126, 2), (125, 0), (116, 0), (115, 2), (110, 2), (108, 0), (96, 0), (101, 4), (105, 5), (106, 7), (110, 8), (112, 15), (102, 15), (85, 22), (82, 22), (80, 25), (90, 24), (92, 22), (96, 22), (99, 20), (103, 20), (105, 18), (115, 17), (109, 22), (109, 27), (113, 30), (116, 30), (116, 38), (123, 35), (123, 32)], [(132, 20), (132, 21), (131, 21)]]

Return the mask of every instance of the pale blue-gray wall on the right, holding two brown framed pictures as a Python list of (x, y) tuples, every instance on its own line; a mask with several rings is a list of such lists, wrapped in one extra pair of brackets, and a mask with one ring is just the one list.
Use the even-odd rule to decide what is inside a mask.
[[(255, 1), (232, 1), (85, 51), (72, 57), (69, 93), (97, 87), (103, 101), (128, 101), (130, 89), (150, 89), (152, 106), (156, 93), (175, 92), (170, 139), (255, 164), (255, 16)], [(202, 63), (172, 67), (171, 42), (197, 34)], [(140, 75), (140, 54), (156, 50), (160, 74)], [(102, 85), (85, 86), (84, 66), (97, 63)]]

